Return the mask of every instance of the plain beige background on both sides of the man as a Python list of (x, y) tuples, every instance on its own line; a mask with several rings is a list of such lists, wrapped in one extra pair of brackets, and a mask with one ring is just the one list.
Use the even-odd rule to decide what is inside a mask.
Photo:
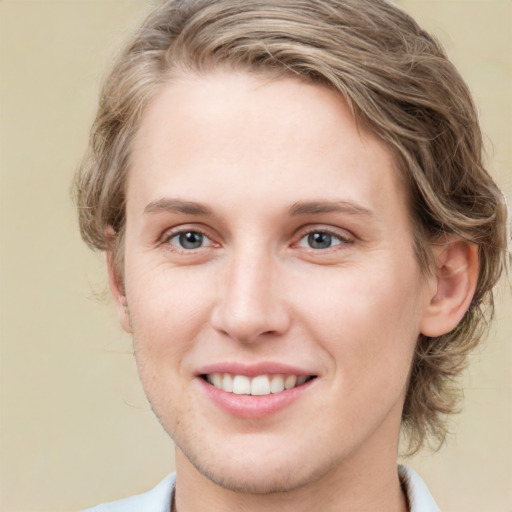
[[(79, 240), (69, 184), (99, 78), (154, 2), (0, 0), (0, 510), (71, 511), (154, 485), (172, 447)], [(409, 0), (470, 82), (512, 195), (512, 2)], [(457, 436), (408, 463), (444, 512), (512, 512), (512, 302), (465, 375)]]

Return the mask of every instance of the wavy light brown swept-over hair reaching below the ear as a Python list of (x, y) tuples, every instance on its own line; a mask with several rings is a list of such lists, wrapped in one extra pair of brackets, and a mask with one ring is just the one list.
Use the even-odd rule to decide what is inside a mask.
[[(439, 447), (458, 409), (456, 377), (493, 314), (507, 264), (507, 210), (483, 163), (471, 94), (437, 40), (386, 0), (166, 1), (128, 41), (107, 76), (75, 200), (83, 239), (114, 254), (122, 279), (125, 185), (145, 108), (180, 73), (218, 67), (296, 76), (344, 97), (357, 122), (395, 157), (409, 195), (414, 248), (478, 246), (479, 278), (459, 325), (419, 336), (402, 414), (409, 453)], [(110, 234), (107, 234), (110, 233)]]

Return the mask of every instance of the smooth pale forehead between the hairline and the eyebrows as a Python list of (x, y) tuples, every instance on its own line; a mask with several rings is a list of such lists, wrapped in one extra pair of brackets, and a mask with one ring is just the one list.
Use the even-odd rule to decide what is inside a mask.
[(215, 193), (238, 194), (242, 204), (270, 195), (284, 204), (364, 202), (402, 191), (390, 151), (357, 126), (333, 89), (233, 71), (180, 76), (144, 113), (128, 201), (184, 195), (208, 202)]

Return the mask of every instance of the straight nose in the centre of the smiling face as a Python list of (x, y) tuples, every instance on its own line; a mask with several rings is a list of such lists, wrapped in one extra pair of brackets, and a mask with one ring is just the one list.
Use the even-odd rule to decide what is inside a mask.
[(213, 327), (241, 342), (254, 343), (284, 334), (290, 314), (272, 256), (260, 250), (240, 251), (227, 263)]

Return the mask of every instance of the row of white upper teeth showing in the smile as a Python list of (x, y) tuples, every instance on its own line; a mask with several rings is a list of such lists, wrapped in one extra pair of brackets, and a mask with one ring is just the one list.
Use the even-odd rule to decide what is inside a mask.
[(251, 379), (246, 375), (211, 373), (206, 376), (206, 380), (216, 388), (235, 395), (264, 396), (300, 386), (308, 380), (308, 376), (258, 375)]

